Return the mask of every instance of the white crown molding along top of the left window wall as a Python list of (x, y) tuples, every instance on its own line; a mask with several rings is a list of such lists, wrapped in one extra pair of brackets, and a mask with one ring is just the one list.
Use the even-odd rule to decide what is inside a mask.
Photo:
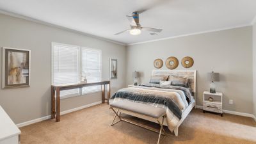
[(19, 19), (24, 19), (24, 20), (29, 20), (31, 22), (36, 22), (38, 24), (44, 24), (46, 26), (51, 26), (51, 27), (54, 27), (54, 28), (59, 28), (59, 29), (63, 29), (63, 30), (66, 30), (66, 31), (70, 31), (72, 33), (78, 33), (80, 35), (84, 35), (84, 36), (90, 36), (92, 38), (96, 38), (98, 40), (104, 40), (106, 42), (111, 42), (111, 43), (115, 43), (115, 44), (119, 44), (119, 45), (126, 45), (122, 42), (116, 42), (115, 40), (109, 40), (108, 38), (104, 38), (104, 37), (101, 37), (101, 36), (96, 36), (96, 35), (92, 35), (92, 34), (88, 34), (88, 33), (84, 33), (84, 32), (81, 32), (81, 31), (77, 31), (75, 29), (70, 29), (70, 28), (65, 28), (63, 26), (58, 26), (56, 24), (51, 24), (49, 22), (45, 22), (45, 21), (42, 21), (42, 20), (38, 20), (38, 19), (33, 19), (31, 17), (26, 17), (24, 15), (19, 15), (17, 13), (12, 13), (12, 12), (7, 12), (7, 11), (4, 11), (4, 10), (1, 10), (0, 9), (0, 13), (4, 14), (4, 15), (9, 15), (11, 17), (17, 17)]

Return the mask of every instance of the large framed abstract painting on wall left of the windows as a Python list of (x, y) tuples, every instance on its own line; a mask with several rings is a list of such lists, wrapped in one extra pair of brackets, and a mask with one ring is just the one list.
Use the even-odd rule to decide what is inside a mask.
[(29, 86), (31, 51), (3, 47), (3, 88)]

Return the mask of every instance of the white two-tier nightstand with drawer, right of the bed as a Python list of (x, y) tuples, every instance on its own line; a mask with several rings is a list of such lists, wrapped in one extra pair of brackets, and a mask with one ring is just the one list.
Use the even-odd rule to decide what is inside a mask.
[[(204, 92), (204, 113), (205, 111), (211, 111), (214, 113), (220, 113), (221, 116), (223, 116), (222, 111), (222, 93), (210, 93), (210, 92)], [(209, 101), (209, 97), (212, 97), (213, 101)]]

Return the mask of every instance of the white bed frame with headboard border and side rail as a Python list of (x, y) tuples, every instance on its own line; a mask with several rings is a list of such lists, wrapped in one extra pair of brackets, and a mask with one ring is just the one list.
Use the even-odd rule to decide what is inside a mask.
[[(179, 124), (174, 129), (175, 136), (178, 136), (179, 126), (182, 124), (182, 122), (188, 116), (190, 111), (193, 108), (195, 108), (195, 105), (196, 105), (196, 70), (153, 70), (153, 72), (152, 72), (152, 76), (154, 76), (154, 75), (168, 75), (168, 76), (175, 75), (175, 76), (177, 76), (177, 74), (178, 75), (181, 74), (182, 76), (186, 76), (186, 74), (189, 74), (189, 79), (193, 79), (193, 85), (191, 87), (191, 90), (194, 93), (193, 97), (194, 97), (195, 101), (192, 102), (191, 104), (189, 104), (188, 108), (186, 108), (182, 112), (182, 117), (181, 117), (181, 119), (179, 121)], [(179, 76), (181, 76), (181, 75), (179, 75)], [(193, 76), (191, 76), (191, 75), (193, 75)], [(121, 110), (120, 109), (120, 113), (125, 113), (127, 115), (136, 116), (138, 118), (142, 118), (144, 120), (148, 120), (150, 122), (157, 123), (156, 119), (154, 119), (154, 118), (150, 118), (149, 116), (139, 115), (138, 113), (132, 113), (131, 111), (125, 111), (125, 110)], [(166, 118), (164, 118), (164, 125), (167, 126)]]

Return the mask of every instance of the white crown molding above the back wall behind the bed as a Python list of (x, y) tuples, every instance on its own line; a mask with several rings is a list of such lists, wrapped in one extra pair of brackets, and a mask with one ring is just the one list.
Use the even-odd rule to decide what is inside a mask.
[(188, 34), (184, 34), (184, 35), (170, 36), (170, 37), (167, 37), (167, 38), (159, 38), (159, 39), (156, 39), (156, 40), (147, 40), (147, 41), (143, 41), (143, 42), (136, 42), (136, 43), (132, 43), (132, 44), (127, 44), (127, 46), (145, 44), (145, 43), (148, 43), (148, 42), (157, 42), (157, 41), (168, 40), (168, 39), (172, 39), (172, 38), (180, 38), (180, 37), (184, 37), (184, 36), (200, 35), (200, 34), (203, 34), (203, 33), (212, 33), (212, 32), (215, 32), (215, 31), (224, 31), (224, 30), (228, 30), (228, 29), (243, 28), (243, 27), (246, 27), (246, 26), (252, 26), (252, 24), (243, 24), (243, 25), (239, 25), (239, 26), (213, 29), (213, 30), (209, 30), (209, 31), (200, 31), (200, 32), (197, 32), (197, 33), (188, 33)]

